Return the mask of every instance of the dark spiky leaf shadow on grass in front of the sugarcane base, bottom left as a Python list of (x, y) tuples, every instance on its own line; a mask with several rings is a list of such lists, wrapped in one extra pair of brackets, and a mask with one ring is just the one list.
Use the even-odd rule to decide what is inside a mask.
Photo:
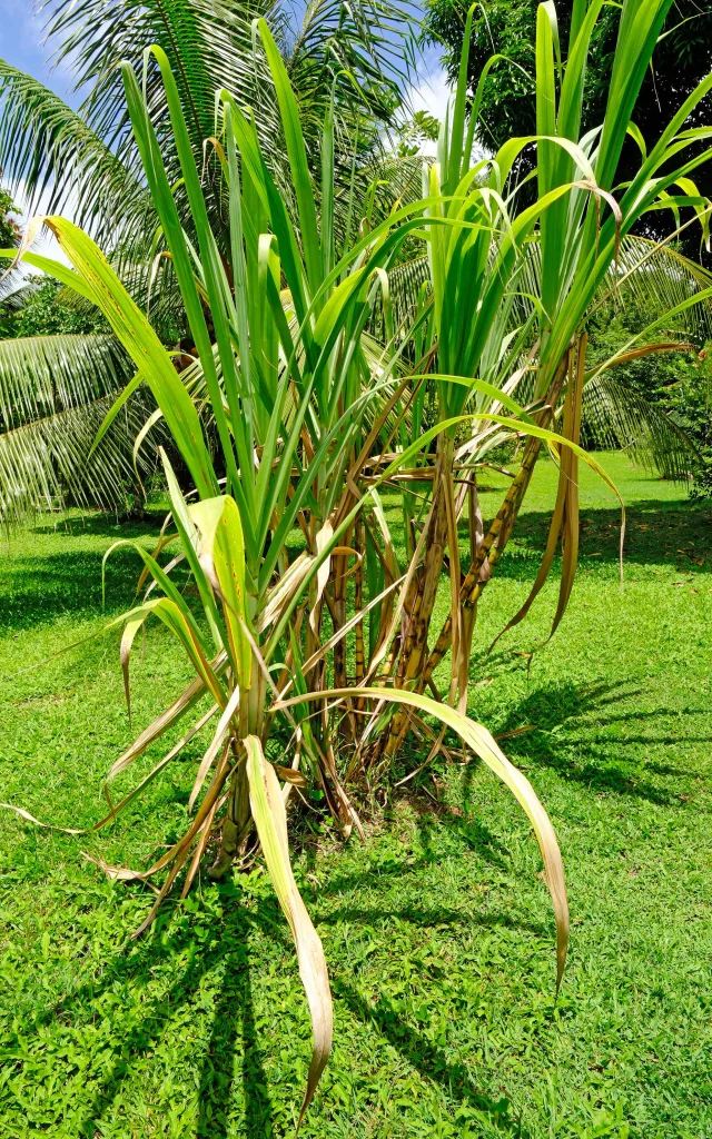
[[(394, 863), (385, 871), (385, 876), (394, 877), (402, 874), (400, 863)], [(370, 876), (338, 875), (334, 882), (344, 888), (358, 886), (363, 877), (373, 887)], [(329, 887), (334, 883), (329, 883)], [(211, 887), (214, 888), (214, 887)], [(149, 984), (152, 978), (169, 966), (171, 959), (188, 950), (188, 960), (180, 973), (171, 977), (167, 988), (141, 1002), (140, 1019), (132, 1023), (128, 1032), (122, 1032), (117, 1025), (116, 1046), (113, 1056), (103, 1068), (101, 1085), (97, 1090), (88, 1108), (81, 1128), (81, 1134), (95, 1134), (97, 1129), (107, 1122), (107, 1114), (113, 1103), (121, 1096), (124, 1081), (132, 1076), (132, 1062), (136, 1057), (149, 1052), (158, 1044), (170, 1019), (175, 1013), (191, 1001), (199, 991), (203, 978), (211, 973), (219, 973), (218, 997), (211, 1009), (210, 1039), (202, 1049), (200, 1072), (198, 1077), (198, 1120), (195, 1139), (228, 1139), (235, 1128), (231, 1103), (235, 1091), (236, 1051), (242, 1044), (239, 1079), (243, 1084), (243, 1120), (240, 1133), (246, 1139), (264, 1139), (276, 1136), (275, 1121), (269, 1097), (267, 1075), (263, 1066), (262, 1051), (256, 1030), (253, 989), (251, 981), (251, 951), (253, 932), (260, 931), (273, 942), (277, 941), (292, 958), (292, 942), (288, 929), (281, 918), (276, 899), (261, 899), (255, 910), (248, 910), (243, 903), (242, 891), (227, 883), (216, 887), (224, 899), (222, 917), (199, 916), (200, 921), (222, 921), (218, 942), (196, 936), (186, 921), (180, 907), (170, 908), (159, 915), (158, 921), (150, 934), (131, 945), (128, 952), (118, 952), (109, 960), (99, 983), (89, 981), (72, 993), (66, 994), (51, 1008), (43, 1010), (35, 1022), (35, 1031), (42, 1032), (52, 1023), (77, 1025), (82, 1015), (91, 1016), (91, 1010), (101, 997), (116, 990), (122, 983), (133, 982), (139, 985)], [(526, 929), (538, 937), (547, 936), (548, 931), (533, 923), (522, 923), (508, 915), (488, 913), (472, 915), (441, 907), (432, 909), (417, 904), (388, 910), (386, 907), (373, 911), (363, 908), (344, 907), (337, 912), (320, 917), (318, 900), (316, 908), (304, 892), (308, 904), (313, 910), (317, 926), (335, 925), (339, 920), (365, 920), (370, 925), (379, 919), (400, 919), (412, 921), (419, 926), (455, 926), (477, 925), (481, 927), (506, 926)], [(335, 962), (330, 962), (334, 970)], [(383, 1034), (425, 1079), (439, 1084), (451, 1104), (461, 1103), (483, 1113), (490, 1124), (496, 1124), (504, 1134), (521, 1136), (518, 1122), (512, 1116), (508, 1100), (493, 1099), (477, 1088), (467, 1067), (461, 1063), (450, 1063), (445, 1052), (429, 1042), (416, 1026), (402, 1021), (400, 1014), (380, 1002), (373, 1007), (353, 986), (347, 977), (336, 967), (333, 975), (335, 997), (344, 1001), (362, 1023), (371, 1024)], [(295, 1087), (295, 1099), (300, 1089)]]

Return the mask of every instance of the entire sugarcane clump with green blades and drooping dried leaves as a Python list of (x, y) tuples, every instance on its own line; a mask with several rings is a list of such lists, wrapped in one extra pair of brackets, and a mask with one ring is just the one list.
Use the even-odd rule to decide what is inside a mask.
[[(615, 284), (620, 276), (622, 236), (673, 182), (681, 194), (668, 195), (666, 204), (706, 208), (686, 181), (699, 156), (674, 178), (656, 173), (702, 137), (696, 132), (688, 140), (690, 132), (681, 131), (685, 108), (645, 157), (639, 178), (617, 195), (613, 186), (636, 84), (669, 0), (625, 0), (615, 98), (603, 131), (579, 138), (586, 54), (600, 7), (575, 5), (564, 66), (553, 7), (542, 6), (540, 133), (510, 140), (493, 158), (473, 161), (478, 97), (468, 120), (466, 35), (453, 113), (441, 134), (439, 161), (426, 166), (423, 197), (394, 207), (382, 221), (369, 214), (367, 198), (360, 226), (350, 221), (342, 233), (334, 226), (333, 104), (314, 177), (298, 106), (263, 21), (256, 22), (255, 34), (279, 108), (289, 199), (271, 172), (254, 116), (230, 91), (220, 90), (214, 134), (206, 140), (222, 179), (227, 229), (223, 219), (219, 233), (167, 57), (153, 47), (146, 66), (150, 60), (161, 72), (190, 237), (141, 77), (124, 65), (126, 106), (159, 220), (162, 252), (172, 263), (195, 344), (189, 374), (179, 375), (93, 240), (66, 219), (38, 220), (55, 233), (73, 267), (42, 260), (41, 268), (105, 314), (136, 366), (133, 388), (139, 383), (150, 388), (191, 484), (181, 486), (162, 454), (170, 525), (153, 554), (136, 546), (144, 562), (139, 587), (147, 588), (108, 628), (123, 626), (129, 703), (132, 646), (152, 617), (177, 638), (195, 678), (117, 759), (109, 780), (177, 722), (189, 726), (93, 829), (113, 820), (197, 732), (216, 723), (195, 776), (186, 833), (147, 869), (96, 861), (117, 879), (163, 875), (138, 935), (181, 874), (185, 896), (204, 860), (210, 876), (220, 878), (237, 858), (261, 847), (293, 933), (312, 1018), (300, 1122), (329, 1055), (332, 1001), (321, 942), (290, 868), (288, 813), (298, 810), (304, 787), (318, 786), (344, 836), (360, 830), (358, 795), (369, 769), (387, 770), (408, 730), (429, 739), (434, 749), (443, 746), (444, 731), (458, 736), (526, 812), (553, 900), (560, 982), (568, 911), (556, 836), (526, 778), (466, 714), (475, 605), (545, 444), (560, 466), (549, 547), (563, 531), (563, 612), (575, 570), (576, 464), (600, 470), (578, 442), (587, 314), (606, 281)], [(513, 171), (526, 146), (537, 147), (539, 195), (517, 213)], [(28, 248), (35, 230), (28, 228), (21, 256), (36, 265)], [(392, 286), (414, 241), (426, 251), (427, 272), (412, 303), (403, 306), (395, 303)], [(679, 312), (668, 314), (664, 327), (707, 295), (712, 289), (697, 289)], [(105, 427), (120, 407), (121, 401)], [(524, 440), (522, 465), (485, 534), (477, 466), (492, 446), (513, 436)], [(383, 506), (384, 490), (393, 489), (404, 523), (403, 565)], [(458, 522), (466, 506), (470, 566), (463, 573)], [(292, 556), (295, 534), (301, 549)], [(167, 548), (173, 557), (163, 566)], [(450, 615), (431, 649), (445, 557)], [(190, 573), (194, 598), (171, 574), (179, 563)], [(450, 646), (451, 678), (442, 694), (434, 670)], [(428, 687), (433, 695), (426, 695)]]

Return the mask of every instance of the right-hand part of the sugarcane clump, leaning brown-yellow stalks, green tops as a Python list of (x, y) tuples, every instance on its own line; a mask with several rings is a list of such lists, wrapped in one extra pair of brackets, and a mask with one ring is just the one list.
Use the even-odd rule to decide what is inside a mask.
[[(648, 14), (646, 24), (650, 38), (655, 27), (664, 19), (666, 5)], [(452, 413), (466, 410), (463, 400), (463, 388), (455, 390), (448, 384), (449, 375), (477, 376), (493, 378), (488, 370), (491, 361), (491, 342), (501, 344), (506, 334), (514, 339), (514, 349), (524, 347), (523, 339), (517, 339), (517, 333), (507, 320), (516, 312), (514, 296), (526, 267), (522, 256), (522, 246), (517, 246), (512, 256), (509, 246), (510, 233), (514, 230), (517, 240), (529, 241), (534, 238), (539, 251), (538, 260), (538, 294), (539, 300), (530, 321), (523, 329), (537, 336), (535, 343), (535, 382), (534, 399), (529, 408), (534, 431), (527, 427), (519, 469), (514, 477), (502, 505), (482, 540), (473, 542), (476, 531), (476, 503), (472, 499), (469, 517), (470, 526), (470, 564), (459, 581), (459, 588), (452, 588), (453, 579), (459, 580), (459, 555), (457, 550), (457, 530), (451, 527), (444, 544), (449, 550), (449, 575), (452, 604), (448, 618), (433, 646), (427, 649), (427, 634), (432, 617), (436, 590), (432, 581), (437, 575), (436, 563), (443, 563), (443, 533), (445, 531), (444, 515), (447, 508), (457, 517), (459, 511), (452, 508), (451, 487), (455, 468), (444, 473), (441, 456), (443, 444), (439, 448), (441, 470), (433, 486), (432, 507), (426, 526), (426, 554), (423, 570), (415, 576), (408, 604), (403, 612), (399, 630), (398, 653), (392, 654), (387, 662), (387, 677), (395, 687), (409, 688), (419, 693), (433, 686), (433, 677), (445, 655), (452, 649), (449, 696), (453, 700), (459, 691), (460, 707), (466, 704), (468, 662), (470, 639), (477, 603), (501, 558), (514, 530), (517, 515), (531, 483), (532, 473), (540, 454), (542, 442), (551, 448), (547, 432), (558, 427), (562, 439), (567, 443), (578, 444), (581, 425), (581, 401), (583, 395), (584, 359), (586, 359), (586, 322), (597, 300), (597, 294), (606, 281), (615, 293), (619, 277), (619, 249), (621, 239), (629, 233), (635, 223), (648, 208), (658, 206), (658, 198), (666, 198), (668, 189), (679, 178), (679, 172), (671, 173), (665, 164), (672, 155), (691, 145), (691, 136), (681, 132), (685, 118), (711, 87), (711, 81), (703, 81), (697, 91), (680, 108), (673, 117), (661, 140), (649, 154), (641, 155), (640, 169), (630, 186), (616, 191), (615, 171), (624, 140), (627, 115), (632, 112), (641, 79), (640, 59), (630, 68), (616, 63), (613, 69), (612, 87), (606, 118), (599, 132), (587, 136), (580, 144), (579, 136), (582, 115), (582, 83), (586, 52), (590, 35), (599, 14), (600, 5), (594, 3), (588, 10), (584, 5), (574, 6), (570, 33), (570, 55), (563, 69), (560, 82), (556, 79), (557, 32), (551, 21), (551, 10), (541, 6), (537, 26), (537, 114), (538, 136), (533, 139), (512, 140), (492, 159), (492, 171), (489, 179), (483, 175), (482, 163), (469, 166), (469, 147), (473, 137), (473, 123), (476, 120), (480, 105), (483, 74), (473, 103), (472, 115), (465, 130), (463, 75), (458, 87), (451, 123), (447, 123), (441, 136), (440, 165), (431, 170), (429, 190), (434, 204), (428, 208), (428, 215), (445, 216), (457, 220), (451, 228), (433, 227), (429, 233), (428, 259), (431, 269), (431, 287), (433, 298), (433, 339), (436, 345), (436, 371), (444, 374), (439, 382), (440, 415), (444, 420)], [(468, 21), (472, 18), (468, 17)], [(627, 34), (633, 34), (632, 27), (638, 22), (644, 23), (640, 13), (633, 15), (631, 8), (624, 9), (621, 23), (621, 46)], [(468, 26), (465, 32), (465, 49), (463, 62), (466, 60), (468, 43)], [(631, 57), (632, 58), (632, 57)], [(623, 108), (623, 113), (622, 113)], [(596, 146), (594, 141), (596, 140)], [(507, 186), (507, 175), (512, 171), (515, 154), (524, 146), (537, 146), (537, 177), (539, 202), (523, 211), (510, 224), (506, 214), (506, 205), (497, 196), (496, 190)], [(705, 158), (696, 156), (686, 162), (685, 173), (695, 165), (701, 165)], [(665, 173), (661, 173), (665, 171)], [(468, 215), (459, 192), (466, 180), (477, 178), (483, 194), (489, 189), (491, 197), (485, 197), (482, 208), (490, 210), (490, 226), (486, 235), (478, 235), (477, 240), (483, 248), (480, 259), (473, 252), (476, 243), (466, 231), (472, 218)], [(709, 203), (697, 195), (691, 182), (682, 180), (684, 195), (695, 206), (703, 222), (705, 235), (709, 233)], [(695, 197), (696, 195), (696, 197)], [(681, 199), (680, 199), (681, 200)], [(674, 207), (673, 207), (674, 208)], [(458, 246), (467, 247), (470, 272), (463, 274), (466, 259), (453, 255)], [(640, 255), (640, 262), (646, 254)], [(476, 267), (475, 271), (472, 268)], [(459, 292), (458, 292), (459, 290)], [(443, 323), (443, 298), (457, 297), (461, 293), (460, 311), (467, 312), (467, 318), (459, 321), (448, 319)], [(702, 303), (709, 290), (701, 289), (693, 301), (682, 302), (672, 313), (656, 321), (647, 331), (649, 335), (658, 327), (664, 327), (671, 316), (680, 316), (690, 303)], [(449, 317), (449, 312), (448, 312)], [(519, 329), (519, 335), (522, 328)], [(491, 338), (491, 339), (490, 339)], [(668, 351), (685, 345), (670, 341), (652, 342), (633, 350), (636, 354)], [(620, 359), (625, 355), (621, 346)], [(516, 352), (506, 357), (504, 374), (497, 375), (496, 383), (506, 390), (506, 371), (516, 375)], [(616, 359), (608, 361), (609, 364)], [(496, 370), (494, 370), (496, 374)], [(460, 380), (461, 383), (461, 380)], [(473, 385), (474, 386), (474, 385)], [(565, 393), (564, 407), (559, 408), (562, 393)], [(572, 394), (575, 393), (575, 394)], [(571, 400), (574, 399), (572, 410)], [(497, 408), (493, 401), (494, 410)], [(485, 420), (486, 415), (480, 410), (478, 420)], [(494, 415), (492, 421), (502, 423), (502, 417)], [(484, 436), (486, 440), (486, 433)], [(578, 494), (575, 490), (578, 458), (574, 451), (559, 449), (554, 443), (555, 457), (560, 462), (560, 478), (557, 502), (554, 510), (551, 531), (542, 563), (542, 570), (537, 579), (532, 597), (526, 603), (523, 613), (507, 628), (521, 620), (529, 609), (533, 597), (539, 592), (551, 566), (557, 539), (562, 538), (564, 563), (559, 603), (554, 628), (559, 623), (571, 596), (573, 575), (578, 556)], [(452, 452), (450, 454), (450, 460)], [(449, 460), (449, 461), (450, 461)], [(460, 505), (461, 505), (460, 500)], [(380, 737), (379, 751), (385, 756), (393, 756), (401, 744), (409, 726), (410, 713), (407, 708), (396, 711), (390, 724)]]

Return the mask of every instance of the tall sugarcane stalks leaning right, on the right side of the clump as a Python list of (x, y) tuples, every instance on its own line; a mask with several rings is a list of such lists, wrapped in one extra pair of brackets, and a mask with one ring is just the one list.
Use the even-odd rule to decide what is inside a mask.
[[(483, 84), (488, 80), (486, 68), (475, 92), (467, 128), (465, 121), (467, 48), (474, 7), (476, 6), (468, 14), (465, 28), (452, 123), (444, 124), (440, 162), (429, 172), (431, 189), (435, 194), (442, 192), (444, 198), (435, 211), (448, 216), (453, 216), (460, 208), (456, 187), (461, 186), (463, 179), (475, 177), (483, 165), (480, 163), (470, 169), (469, 159)], [(587, 55), (603, 7), (604, 0), (594, 0), (588, 6), (586, 0), (576, 0), (572, 10), (568, 55), (564, 63), (555, 6), (540, 5), (537, 23), (538, 134), (534, 138), (510, 139), (486, 163), (490, 200), (498, 204), (501, 200), (499, 208), (504, 222), (500, 231), (494, 224), (489, 231), (483, 229), (478, 235), (478, 241), (485, 247), (480, 253), (480, 261), (474, 240), (457, 228), (434, 230), (429, 237), (428, 251), (433, 336), (437, 345), (440, 370), (456, 371), (460, 376), (477, 372), (491, 376), (509, 393), (529, 372), (533, 377), (530, 413), (542, 428), (558, 423), (562, 436), (572, 443), (579, 442), (587, 384), (591, 384), (607, 367), (623, 362), (630, 353), (645, 355), (688, 347), (680, 338), (676, 343), (670, 333), (676, 329), (678, 333), (685, 330), (685, 321), (691, 310), (709, 306), (712, 296), (712, 281), (706, 278), (689, 289), (684, 288), (682, 296), (678, 295), (672, 304), (662, 304), (660, 318), (636, 338), (644, 339), (644, 345), (636, 345), (633, 341), (622, 344), (620, 352), (611, 360), (587, 372), (587, 320), (601, 303), (601, 295), (617, 294), (621, 303), (625, 303), (627, 297), (630, 297), (627, 286), (635, 286), (636, 278), (641, 277), (646, 263), (649, 263), (653, 252), (658, 248), (644, 246), (636, 249), (631, 241), (637, 255), (629, 259), (624, 271), (621, 270), (621, 244), (636, 222), (647, 211), (660, 208), (672, 210), (679, 220), (680, 207), (690, 206), (702, 224), (707, 247), (710, 237), (710, 203), (698, 194), (689, 175), (709, 161), (712, 151), (704, 147), (704, 142), (712, 131), (707, 128), (685, 130), (685, 122), (712, 90), (712, 76), (703, 80), (678, 109), (649, 153), (640, 132), (631, 123), (645, 69), (649, 66), (670, 8), (668, 0), (623, 3), (606, 116), (600, 126), (581, 137)], [(627, 134), (631, 134), (638, 142), (641, 162), (630, 183), (619, 187), (615, 185), (615, 172)], [(519, 189), (516, 179), (510, 177), (513, 165), (522, 150), (532, 145), (537, 147), (538, 202), (510, 221), (507, 210), (516, 202)], [(671, 194), (671, 189), (677, 192)], [(497, 197), (499, 194), (504, 195), (504, 199)], [(435, 211), (431, 207), (429, 212)], [(524, 243), (531, 240), (534, 244), (533, 280), (532, 265), (530, 263), (527, 271), (526, 256), (514, 257), (508, 247), (513, 231), (521, 235), (521, 253)], [(460, 253), (463, 244), (469, 246), (467, 257)], [(679, 277), (674, 270), (671, 276)], [(532, 285), (534, 295), (529, 293), (523, 296)], [(459, 305), (457, 302), (452, 304), (458, 294), (463, 296), (463, 302)], [(529, 302), (525, 304), (529, 316), (518, 322), (522, 305), (516, 304), (517, 301)], [(439, 304), (444, 304), (444, 329)], [(513, 310), (514, 321), (510, 319)], [(530, 337), (530, 352), (525, 353), (527, 323), (534, 335)], [(652, 338), (660, 330), (664, 330), (665, 338)], [(463, 387), (445, 383), (440, 401), (441, 415), (445, 417), (452, 413), (464, 402)], [(490, 419), (490, 424), (496, 423), (497, 417)], [(450, 575), (450, 614), (428, 654), (426, 644), (433, 592), (428, 591), (428, 574), (423, 574), (403, 614), (403, 648), (399, 654), (392, 654), (390, 661), (390, 672), (395, 685), (424, 691), (432, 683), (435, 669), (452, 649), (450, 694), (453, 695), (459, 687), (464, 705), (477, 603), (512, 535), (545, 440), (546, 432), (529, 431), (519, 469), (485, 534), (480, 532), (482, 518), (477, 509), (476, 485), (472, 487), (470, 564), (460, 580), (452, 531), (452, 540), (448, 544), (451, 565), (456, 566), (456, 571)], [(490, 443), (491, 433), (478, 427), (469, 446), (464, 448), (461, 454), (469, 460), (477, 454), (482, 457), (483, 444), (486, 448)], [(440, 440), (443, 457), (448, 446), (451, 449), (452, 444), (447, 442), (447, 434), (443, 433)], [(559, 536), (563, 570), (553, 631), (565, 612), (578, 559), (578, 464), (579, 456), (573, 448), (565, 448), (560, 452), (557, 499), (542, 566), (530, 598), (510, 625), (524, 616), (541, 589)], [(452, 482), (451, 474), (449, 477)], [(434, 510), (434, 532), (442, 534), (444, 518), (457, 518), (464, 502), (464, 494), (459, 499), (453, 499), (451, 493), (444, 495), (440, 507), (440, 522), (435, 521)], [(433, 560), (439, 562), (442, 557), (442, 543), (434, 542), (431, 548)], [(440, 568), (433, 571), (439, 572)], [(460, 584), (456, 588), (453, 583), (457, 581)], [(417, 614), (417, 618), (414, 618), (414, 614)], [(384, 737), (387, 752), (395, 753), (407, 727), (407, 713), (393, 719), (390, 735)]]

